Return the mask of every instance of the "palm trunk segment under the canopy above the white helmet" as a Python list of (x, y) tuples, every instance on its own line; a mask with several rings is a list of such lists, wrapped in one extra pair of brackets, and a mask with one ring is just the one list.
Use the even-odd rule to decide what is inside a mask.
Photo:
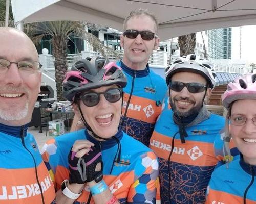
[(179, 36), (178, 43), (180, 46), (180, 56), (186, 56), (194, 53), (196, 46), (196, 33)]

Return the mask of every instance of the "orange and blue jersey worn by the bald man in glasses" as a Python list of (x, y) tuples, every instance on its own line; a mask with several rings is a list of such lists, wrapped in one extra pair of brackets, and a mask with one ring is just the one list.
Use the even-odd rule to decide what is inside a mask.
[[(34, 137), (26, 129), (0, 124), (0, 203), (42, 203), (42, 195), (45, 204), (55, 203), (49, 172)], [(22, 145), (22, 132), (27, 149)]]

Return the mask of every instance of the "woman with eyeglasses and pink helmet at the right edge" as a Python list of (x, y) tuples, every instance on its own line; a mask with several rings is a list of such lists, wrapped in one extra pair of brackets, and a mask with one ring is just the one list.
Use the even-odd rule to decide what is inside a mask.
[[(222, 95), (228, 110), (225, 141), (233, 139), (240, 160), (217, 168), (211, 176), (206, 203), (256, 203), (256, 74), (229, 83)], [(228, 147), (228, 145), (226, 145)]]

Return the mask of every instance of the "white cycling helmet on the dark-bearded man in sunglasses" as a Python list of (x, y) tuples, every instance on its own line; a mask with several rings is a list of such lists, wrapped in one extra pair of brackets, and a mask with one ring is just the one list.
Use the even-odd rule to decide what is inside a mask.
[(178, 57), (173, 64), (168, 67), (165, 72), (167, 85), (169, 85), (170, 78), (180, 71), (188, 71), (202, 75), (211, 89), (213, 89), (216, 84), (215, 73), (212, 73), (210, 63), (206, 63), (206, 61), (204, 61), (204, 64), (197, 62), (195, 55), (189, 55), (189, 58)]

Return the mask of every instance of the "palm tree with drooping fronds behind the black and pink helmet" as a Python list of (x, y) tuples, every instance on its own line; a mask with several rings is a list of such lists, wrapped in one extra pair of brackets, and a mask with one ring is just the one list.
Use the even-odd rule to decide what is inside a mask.
[(25, 32), (31, 36), (35, 43), (39, 43), (42, 37), (51, 36), (51, 44), (53, 47), (53, 57), (55, 58), (55, 81), (57, 89), (57, 99), (63, 100), (62, 97), (62, 82), (65, 79), (65, 73), (68, 69), (67, 63), (67, 42), (72, 37), (79, 37), (86, 40), (94, 50), (97, 50), (103, 56), (107, 52), (111, 52), (117, 58), (119, 56), (104, 45), (93, 34), (86, 32), (86, 23), (78, 21), (49, 21), (28, 24)]

